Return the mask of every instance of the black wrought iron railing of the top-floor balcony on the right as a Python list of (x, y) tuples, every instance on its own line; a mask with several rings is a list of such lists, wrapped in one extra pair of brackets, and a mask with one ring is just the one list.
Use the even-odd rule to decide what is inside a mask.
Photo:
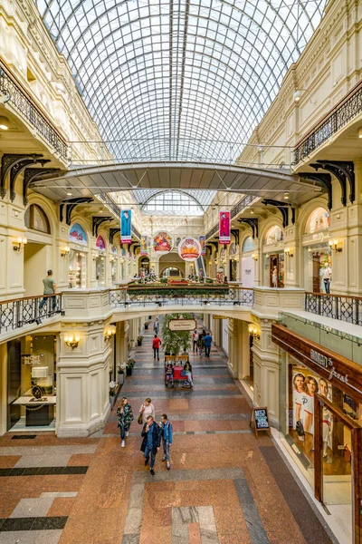
[(300, 140), (294, 149), (294, 163), (310, 156), (310, 153), (329, 140), (339, 129), (362, 112), (362, 82), (348, 92), (347, 96)]

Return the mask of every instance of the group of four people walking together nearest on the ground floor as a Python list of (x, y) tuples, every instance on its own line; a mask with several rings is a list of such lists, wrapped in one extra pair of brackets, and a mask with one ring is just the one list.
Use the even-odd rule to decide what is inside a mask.
[[(120, 406), (117, 410), (119, 419), (121, 447), (126, 445), (126, 438), (129, 436), (129, 427), (133, 421), (132, 407), (129, 404), (128, 398), (123, 397)], [(155, 461), (157, 452), (163, 445), (164, 455), (162, 461), (167, 461), (167, 471), (170, 470), (170, 445), (172, 444), (172, 423), (168, 421), (167, 413), (161, 415), (160, 423), (155, 421), (155, 406), (148, 397), (139, 408), (138, 423), (142, 424), (142, 444), (141, 452), (145, 458), (145, 466), (148, 466), (152, 476), (155, 475)]]

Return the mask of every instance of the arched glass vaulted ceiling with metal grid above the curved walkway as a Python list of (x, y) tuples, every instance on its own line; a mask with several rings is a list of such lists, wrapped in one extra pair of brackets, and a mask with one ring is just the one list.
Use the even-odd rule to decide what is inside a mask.
[(115, 160), (231, 160), (327, 0), (34, 0)]

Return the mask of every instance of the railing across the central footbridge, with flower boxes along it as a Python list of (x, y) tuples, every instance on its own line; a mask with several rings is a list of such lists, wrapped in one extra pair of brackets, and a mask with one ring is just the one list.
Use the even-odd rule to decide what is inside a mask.
[(110, 306), (195, 306), (200, 310), (211, 304), (252, 306), (253, 289), (232, 286), (214, 287), (119, 287), (110, 290)]

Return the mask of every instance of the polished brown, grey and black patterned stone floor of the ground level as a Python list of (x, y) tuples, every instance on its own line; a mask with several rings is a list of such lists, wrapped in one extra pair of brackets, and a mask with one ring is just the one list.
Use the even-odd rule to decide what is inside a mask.
[[(249, 429), (250, 405), (218, 348), (191, 356), (194, 389), (165, 389), (152, 332), (105, 428), (87, 439), (0, 438), (0, 543), (329, 544), (333, 542), (271, 439)], [(120, 447), (116, 408), (136, 414)], [(173, 423), (171, 470), (139, 451), (150, 396)]]

